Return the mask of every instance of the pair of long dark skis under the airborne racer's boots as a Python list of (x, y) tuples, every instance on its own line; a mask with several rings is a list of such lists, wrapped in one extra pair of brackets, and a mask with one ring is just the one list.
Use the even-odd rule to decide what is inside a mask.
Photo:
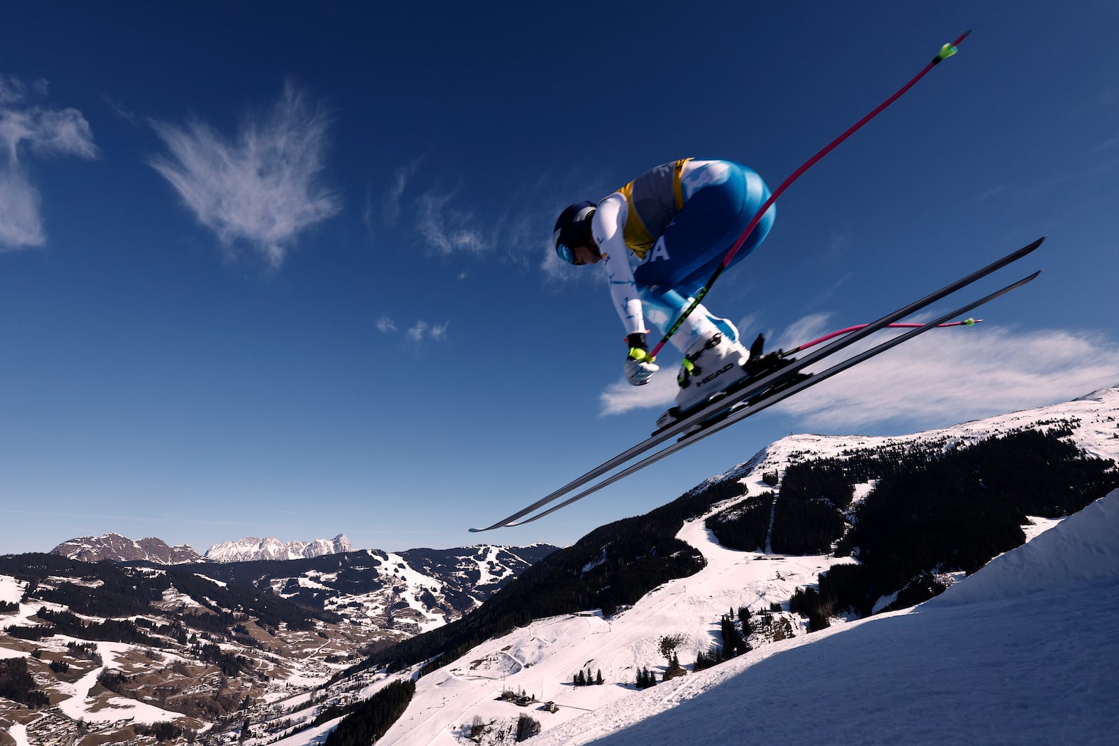
[[(695, 442), (698, 442), (699, 440), (706, 438), (707, 436), (718, 432), (723, 428), (730, 427), (735, 422), (740, 422), (745, 418), (751, 417), (752, 414), (756, 414), (758, 412), (762, 411), (763, 409), (772, 404), (778, 403), (779, 401), (782, 401), (796, 393), (799, 393), (805, 389), (821, 383), (827, 379), (831, 377), (833, 375), (836, 375), (837, 373), (840, 373), (854, 365), (867, 361), (871, 357), (880, 355), (886, 352), (887, 349), (891, 349), (892, 347), (902, 344), (903, 342), (912, 339), (913, 337), (920, 334), (924, 334), (929, 329), (935, 328), (941, 324), (946, 324), (952, 318), (962, 316), (963, 314), (967, 314), (982, 306), (984, 304), (989, 302), (995, 298), (998, 298), (999, 296), (1004, 296), (1010, 292), (1012, 290), (1015, 290), (1016, 288), (1026, 285), (1027, 282), (1034, 280), (1038, 274), (1041, 274), (1041, 270), (1037, 270), (1033, 274), (1024, 277), (1023, 279), (1016, 282), (1012, 282), (1010, 285), (999, 290), (996, 290), (995, 292), (991, 292), (988, 296), (979, 298), (978, 300), (974, 300), (962, 306), (961, 308), (951, 311), (950, 314), (944, 314), (943, 316), (933, 319), (928, 324), (922, 324), (920, 326), (916, 326), (915, 328), (910, 329), (905, 334), (887, 339), (886, 342), (883, 342), (874, 347), (871, 347), (869, 349), (858, 353), (857, 355), (845, 358), (841, 362), (835, 363), (834, 365), (824, 371), (812, 373), (808, 377), (805, 377), (800, 373), (803, 369), (808, 367), (809, 365), (812, 365), (814, 363), (817, 363), (826, 357), (829, 357), (839, 352), (840, 349), (855, 344), (859, 339), (863, 339), (880, 329), (886, 328), (891, 324), (894, 324), (908, 316), (911, 316), (918, 310), (921, 310), (927, 306), (930, 306), (937, 302), (938, 300), (941, 300), (955, 293), (957, 290), (960, 290), (980, 280), (981, 278), (985, 278), (988, 274), (1018, 261), (1026, 254), (1037, 249), (1037, 246), (1040, 246), (1044, 240), (1045, 239), (1043, 236), (1034, 241), (1033, 243), (1023, 246), (1022, 249), (1018, 249), (1017, 251), (1014, 251), (1003, 257), (1002, 259), (998, 259), (991, 262), (990, 264), (987, 264), (986, 267), (979, 270), (976, 270), (975, 272), (968, 274), (967, 277), (960, 278), (959, 280), (944, 286), (940, 290), (937, 290), (935, 292), (932, 292), (925, 296), (924, 298), (921, 298), (920, 300), (914, 300), (913, 302), (908, 304), (906, 306), (903, 306), (897, 310), (887, 314), (886, 316), (883, 316), (876, 321), (866, 324), (862, 326), (862, 328), (856, 328), (850, 334), (847, 334), (846, 336), (835, 339), (830, 344), (827, 344), (824, 347), (820, 347), (819, 349), (810, 352), (803, 357), (790, 361), (789, 364), (784, 365), (783, 367), (768, 375), (762, 375), (758, 380), (747, 383), (746, 385), (740, 388), (737, 391), (734, 391), (733, 393), (728, 393), (726, 395), (709, 400), (705, 405), (700, 407), (698, 410), (689, 412), (683, 419), (677, 420), (676, 422), (668, 425), (661, 428), (660, 430), (657, 430), (646, 440), (637, 444), (636, 446), (629, 448), (628, 450), (622, 451), (621, 454), (614, 456), (610, 460), (604, 461), (603, 464), (596, 466), (595, 468), (591, 469), (590, 472), (579, 477), (577, 479), (568, 482), (563, 487), (560, 487), (555, 492), (542, 497), (532, 505), (528, 505), (517, 511), (513, 515), (509, 515), (492, 525), (478, 529), (470, 529), (470, 530), (474, 532), (491, 531), (493, 529), (524, 525), (526, 523), (532, 523), (533, 521), (537, 521), (544, 517), (545, 515), (554, 513), (555, 511), (565, 507), (579, 500), (582, 500), (583, 497), (586, 497), (587, 495), (593, 494), (599, 489), (633, 474), (634, 472), (643, 469), (645, 467), (655, 464), (656, 461), (659, 461), (660, 459), (670, 456), (671, 454), (675, 454), (681, 448), (686, 448)], [(622, 468), (620, 472), (610, 474), (614, 469), (618, 469), (624, 466), (626, 464), (629, 464), (638, 456), (649, 450), (652, 450), (662, 442), (670, 440), (671, 438), (675, 438), (677, 436), (679, 436), (679, 439), (675, 444), (666, 446), (665, 448), (656, 451), (655, 454), (647, 456), (626, 468)], [(602, 478), (600, 479), (600, 477)], [(595, 482), (596, 479), (599, 481)], [(551, 507), (547, 507), (545, 510), (540, 510), (544, 509), (546, 505), (560, 500), (561, 497), (565, 497), (567, 495), (571, 495), (572, 493), (575, 493), (575, 491), (580, 489), (581, 487), (584, 488), (581, 492), (577, 492), (576, 494), (567, 497), (563, 502), (556, 505), (552, 505)], [(535, 513), (536, 511), (540, 512)]]

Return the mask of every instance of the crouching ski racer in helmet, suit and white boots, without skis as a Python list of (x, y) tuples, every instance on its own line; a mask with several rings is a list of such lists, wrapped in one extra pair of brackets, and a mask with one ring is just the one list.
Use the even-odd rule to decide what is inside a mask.
[[(659, 366), (649, 357), (646, 321), (661, 334), (678, 319), (770, 196), (753, 170), (727, 160), (684, 158), (652, 168), (600, 201), (561, 213), (553, 240), (572, 264), (602, 262), (626, 328), (626, 379), (642, 385)], [(773, 226), (765, 215), (731, 265)], [(643, 306), (643, 307), (642, 307)], [(683, 411), (746, 376), (751, 352), (725, 318), (697, 306), (673, 344), (684, 353), (676, 409)], [(755, 356), (760, 354), (760, 338)]]

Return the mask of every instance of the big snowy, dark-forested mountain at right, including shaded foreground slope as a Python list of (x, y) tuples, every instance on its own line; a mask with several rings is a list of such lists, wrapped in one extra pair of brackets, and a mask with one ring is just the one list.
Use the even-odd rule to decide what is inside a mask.
[[(478, 612), (377, 651), (336, 687), (373, 692), (420, 674), (407, 709), (417, 715), (397, 719), (385, 744), (453, 734), (487, 746), (513, 739), (523, 718), (542, 744), (723, 744), (747, 733), (1102, 743), (1119, 726), (1102, 701), (1119, 664), (1108, 632), (1119, 610), (1117, 457), (1119, 389), (911, 436), (791, 436), (652, 520), (602, 526), (551, 554)], [(656, 528), (670, 521), (680, 544)], [(1066, 523), (1041, 549), (1022, 547)], [(641, 542), (649, 551), (633, 551)], [(697, 557), (697, 569), (658, 556)], [(600, 598), (634, 580), (636, 602), (613, 596), (601, 610)], [(949, 607), (953, 597), (968, 602)], [(679, 680), (661, 682), (666, 647)], [(704, 668), (728, 647), (730, 661)], [(581, 671), (601, 671), (605, 686), (573, 686)], [(660, 682), (648, 692), (636, 687), (646, 671)], [(495, 700), (498, 687), (558, 710)], [(1072, 724), (1069, 712), (1083, 716)], [(347, 738), (337, 722), (321, 728)]]

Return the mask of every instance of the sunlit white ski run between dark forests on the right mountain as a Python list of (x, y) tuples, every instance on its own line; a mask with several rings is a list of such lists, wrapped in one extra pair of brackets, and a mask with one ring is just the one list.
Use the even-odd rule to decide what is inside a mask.
[[(421, 678), (413, 705), (378, 743), (468, 743), (454, 734), (476, 716), (516, 719), (524, 712), (548, 727), (596, 711), (633, 694), (638, 669), (664, 669), (661, 636), (681, 636), (678, 655), (681, 662), (690, 662), (716, 643), (718, 619), (730, 609), (768, 609), (771, 603), (787, 600), (798, 586), (814, 584), (830, 565), (852, 561), (728, 550), (715, 543), (702, 519), (685, 524), (678, 537), (700, 549), (707, 560), (703, 570), (660, 586), (611, 619), (600, 614), (537, 619), (479, 645)], [(799, 625), (794, 632), (803, 635)], [(572, 677), (580, 670), (592, 674), (601, 670), (609, 683), (573, 687)], [(497, 701), (504, 689), (524, 689), (542, 702), (555, 701), (561, 709), (551, 714), (536, 706), (525, 710)]]

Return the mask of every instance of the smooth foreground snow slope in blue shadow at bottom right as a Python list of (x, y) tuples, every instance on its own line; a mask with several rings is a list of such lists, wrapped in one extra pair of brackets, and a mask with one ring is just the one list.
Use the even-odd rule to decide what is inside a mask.
[(914, 609), (763, 646), (533, 743), (1113, 743), (1117, 558), (1119, 491)]

